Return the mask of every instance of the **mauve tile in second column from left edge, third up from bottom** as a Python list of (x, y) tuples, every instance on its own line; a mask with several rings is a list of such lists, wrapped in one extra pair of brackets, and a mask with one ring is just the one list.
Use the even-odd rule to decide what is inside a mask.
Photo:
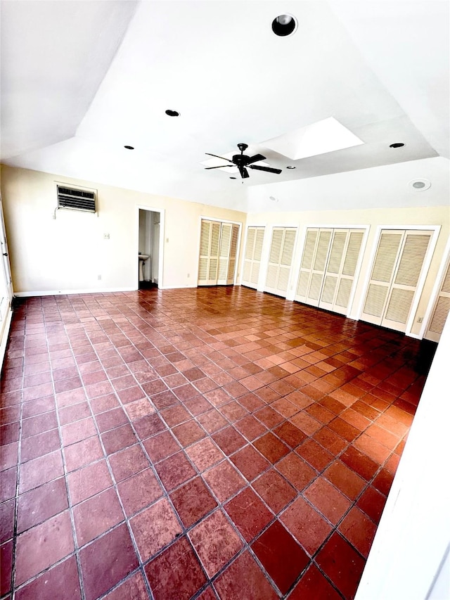
[(18, 533), (68, 509), (64, 478), (45, 483), (21, 494), (18, 499)]

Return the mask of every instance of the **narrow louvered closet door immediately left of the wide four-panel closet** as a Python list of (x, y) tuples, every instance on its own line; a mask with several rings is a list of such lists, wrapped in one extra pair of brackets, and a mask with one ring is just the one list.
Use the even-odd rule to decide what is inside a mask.
[(283, 296), (288, 292), (296, 233), (295, 227), (274, 227), (265, 291)]

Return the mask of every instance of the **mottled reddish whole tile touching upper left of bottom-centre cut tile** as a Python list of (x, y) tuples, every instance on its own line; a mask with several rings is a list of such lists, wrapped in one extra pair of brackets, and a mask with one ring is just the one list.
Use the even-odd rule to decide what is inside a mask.
[(200, 521), (188, 535), (210, 578), (243, 547), (243, 542), (221, 510)]

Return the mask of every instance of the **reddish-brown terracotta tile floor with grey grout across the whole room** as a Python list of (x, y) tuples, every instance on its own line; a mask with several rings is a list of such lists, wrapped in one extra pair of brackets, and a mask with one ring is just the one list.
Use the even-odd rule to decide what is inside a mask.
[(1, 597), (352, 598), (422, 350), (239, 287), (22, 300)]

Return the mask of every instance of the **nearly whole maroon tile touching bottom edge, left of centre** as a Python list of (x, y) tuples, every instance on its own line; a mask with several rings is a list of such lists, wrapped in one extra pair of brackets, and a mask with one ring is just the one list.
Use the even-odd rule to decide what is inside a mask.
[(96, 600), (138, 566), (127, 525), (99, 537), (79, 553), (86, 600)]

